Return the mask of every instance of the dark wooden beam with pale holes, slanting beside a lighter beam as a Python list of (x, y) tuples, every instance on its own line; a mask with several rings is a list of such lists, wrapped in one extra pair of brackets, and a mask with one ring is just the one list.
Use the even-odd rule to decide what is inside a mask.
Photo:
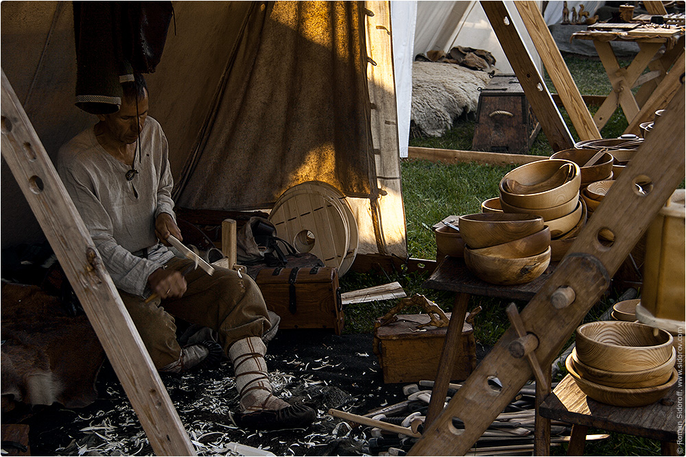
[(545, 82), (536, 69), (536, 65), (531, 60), (521, 36), (514, 28), (514, 23), (512, 23), (504, 3), (502, 1), (482, 1), (481, 6), (488, 16), (488, 21), (490, 21), (490, 25), (493, 27), (505, 55), (507, 55), (514, 74), (517, 75), (524, 95), (534, 110), (536, 119), (541, 123), (541, 128), (545, 132), (553, 151), (572, 148), (574, 140), (571, 133), (569, 133), (560, 111), (555, 106), (550, 92), (545, 87)]

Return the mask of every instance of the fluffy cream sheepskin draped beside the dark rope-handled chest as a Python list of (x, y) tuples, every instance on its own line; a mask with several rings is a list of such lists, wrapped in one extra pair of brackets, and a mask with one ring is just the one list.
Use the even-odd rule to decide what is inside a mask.
[(410, 121), (427, 136), (442, 136), (462, 112), (476, 111), (478, 88), (486, 87), (489, 79), (484, 71), (460, 65), (414, 62)]

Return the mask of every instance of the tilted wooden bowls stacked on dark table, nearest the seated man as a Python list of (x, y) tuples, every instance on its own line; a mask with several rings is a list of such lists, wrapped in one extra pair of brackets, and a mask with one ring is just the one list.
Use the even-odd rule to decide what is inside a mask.
[(512, 285), (539, 277), (550, 263), (550, 230), (533, 214), (484, 212), (460, 217), (466, 267), (485, 282)]

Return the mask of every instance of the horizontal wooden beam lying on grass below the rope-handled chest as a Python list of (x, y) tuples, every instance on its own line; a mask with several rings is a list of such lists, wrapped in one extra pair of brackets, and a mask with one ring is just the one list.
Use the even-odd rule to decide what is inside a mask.
[(423, 159), (447, 164), (476, 162), (484, 165), (522, 165), (547, 159), (546, 156), (506, 154), (499, 152), (460, 151), (458, 149), (435, 149), (432, 147), (408, 147), (407, 158)]

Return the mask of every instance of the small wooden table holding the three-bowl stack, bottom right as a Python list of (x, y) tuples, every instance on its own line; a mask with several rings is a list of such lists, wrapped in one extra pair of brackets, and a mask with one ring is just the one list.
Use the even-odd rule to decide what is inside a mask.
[[(572, 424), (567, 455), (580, 456), (589, 427), (661, 441), (663, 456), (676, 456), (679, 417), (683, 430), (683, 375), (660, 402), (640, 408), (622, 408), (596, 402), (584, 394), (570, 375), (560, 381), (541, 403), (539, 414)], [(681, 402), (681, 404), (680, 404)]]

